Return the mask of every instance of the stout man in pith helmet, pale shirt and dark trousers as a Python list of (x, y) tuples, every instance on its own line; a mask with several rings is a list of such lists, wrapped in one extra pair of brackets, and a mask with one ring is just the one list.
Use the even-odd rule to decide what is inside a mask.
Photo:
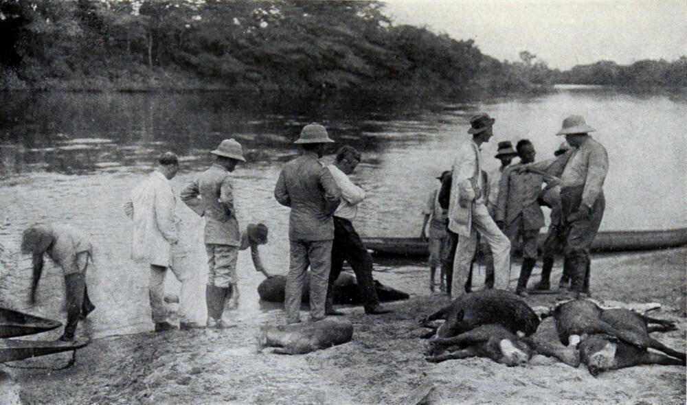
[(553, 161), (526, 167), (561, 177), (561, 207), (567, 227), (564, 265), (570, 268), (570, 290), (576, 297), (589, 295), (589, 247), (596, 238), (606, 205), (602, 187), (608, 172), (608, 154), (589, 136), (593, 131), (581, 115), (570, 115), (556, 135), (565, 136), (572, 149)]

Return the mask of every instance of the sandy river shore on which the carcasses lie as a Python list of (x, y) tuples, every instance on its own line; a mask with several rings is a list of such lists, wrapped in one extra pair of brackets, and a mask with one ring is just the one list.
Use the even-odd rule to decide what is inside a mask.
[[(594, 297), (661, 303), (653, 316), (675, 321), (679, 329), (653, 336), (684, 350), (686, 253), (678, 248), (595, 257)], [(554, 279), (559, 274), (560, 269), (554, 271)], [(416, 272), (403, 283), (419, 289), (425, 278), (426, 273)], [(553, 300), (529, 299), (532, 305)], [(405, 404), (414, 390), (426, 386), (431, 387), (425, 397), (429, 404), (685, 403), (685, 367), (633, 367), (593, 378), (584, 367), (573, 369), (543, 356), (532, 358), (527, 367), (506, 367), (484, 358), (427, 363), (426, 340), (418, 338), (424, 329), (417, 319), (445, 303), (445, 297), (428, 292), (385, 304), (394, 310), (391, 314), (368, 316), (361, 308), (344, 308), (354, 323), (353, 340), (300, 356), (258, 352), (260, 324), (253, 321), (225, 331), (100, 338), (80, 349), (69, 369), (10, 367), (59, 367), (69, 354), (1, 365), (1, 402)], [(283, 322), (280, 310), (267, 315), (270, 322)]]

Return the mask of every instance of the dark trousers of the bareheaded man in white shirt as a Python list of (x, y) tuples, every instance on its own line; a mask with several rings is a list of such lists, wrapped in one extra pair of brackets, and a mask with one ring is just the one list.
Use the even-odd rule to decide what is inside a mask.
[(372, 281), (372, 256), (365, 248), (360, 236), (349, 220), (334, 217), (334, 242), (332, 245), (332, 268), (327, 286), (327, 306), (334, 303), (334, 281), (341, 274), (343, 261), (346, 260), (355, 273), (358, 289), (365, 309), (379, 305), (377, 290)]

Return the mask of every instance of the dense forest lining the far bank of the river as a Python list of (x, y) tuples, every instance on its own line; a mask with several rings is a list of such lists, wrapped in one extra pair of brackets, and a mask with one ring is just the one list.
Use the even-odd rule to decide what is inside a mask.
[(0, 89), (456, 98), (557, 82), (685, 86), (687, 59), (549, 69), (394, 25), (378, 1), (0, 0)]

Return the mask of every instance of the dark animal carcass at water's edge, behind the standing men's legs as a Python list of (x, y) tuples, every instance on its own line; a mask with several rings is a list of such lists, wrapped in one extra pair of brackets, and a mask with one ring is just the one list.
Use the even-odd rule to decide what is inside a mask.
[[(303, 302), (308, 303), (310, 299), (310, 273), (306, 273), (303, 283)], [(284, 302), (284, 287), (286, 286), (286, 276), (276, 275), (264, 279), (258, 286), (260, 299), (269, 302)], [(379, 301), (397, 301), (408, 299), (409, 295), (403, 291), (383, 286), (379, 281), (374, 281)], [(358, 284), (353, 275), (341, 273), (334, 283), (334, 303), (335, 304), (359, 304), (361, 303)]]

